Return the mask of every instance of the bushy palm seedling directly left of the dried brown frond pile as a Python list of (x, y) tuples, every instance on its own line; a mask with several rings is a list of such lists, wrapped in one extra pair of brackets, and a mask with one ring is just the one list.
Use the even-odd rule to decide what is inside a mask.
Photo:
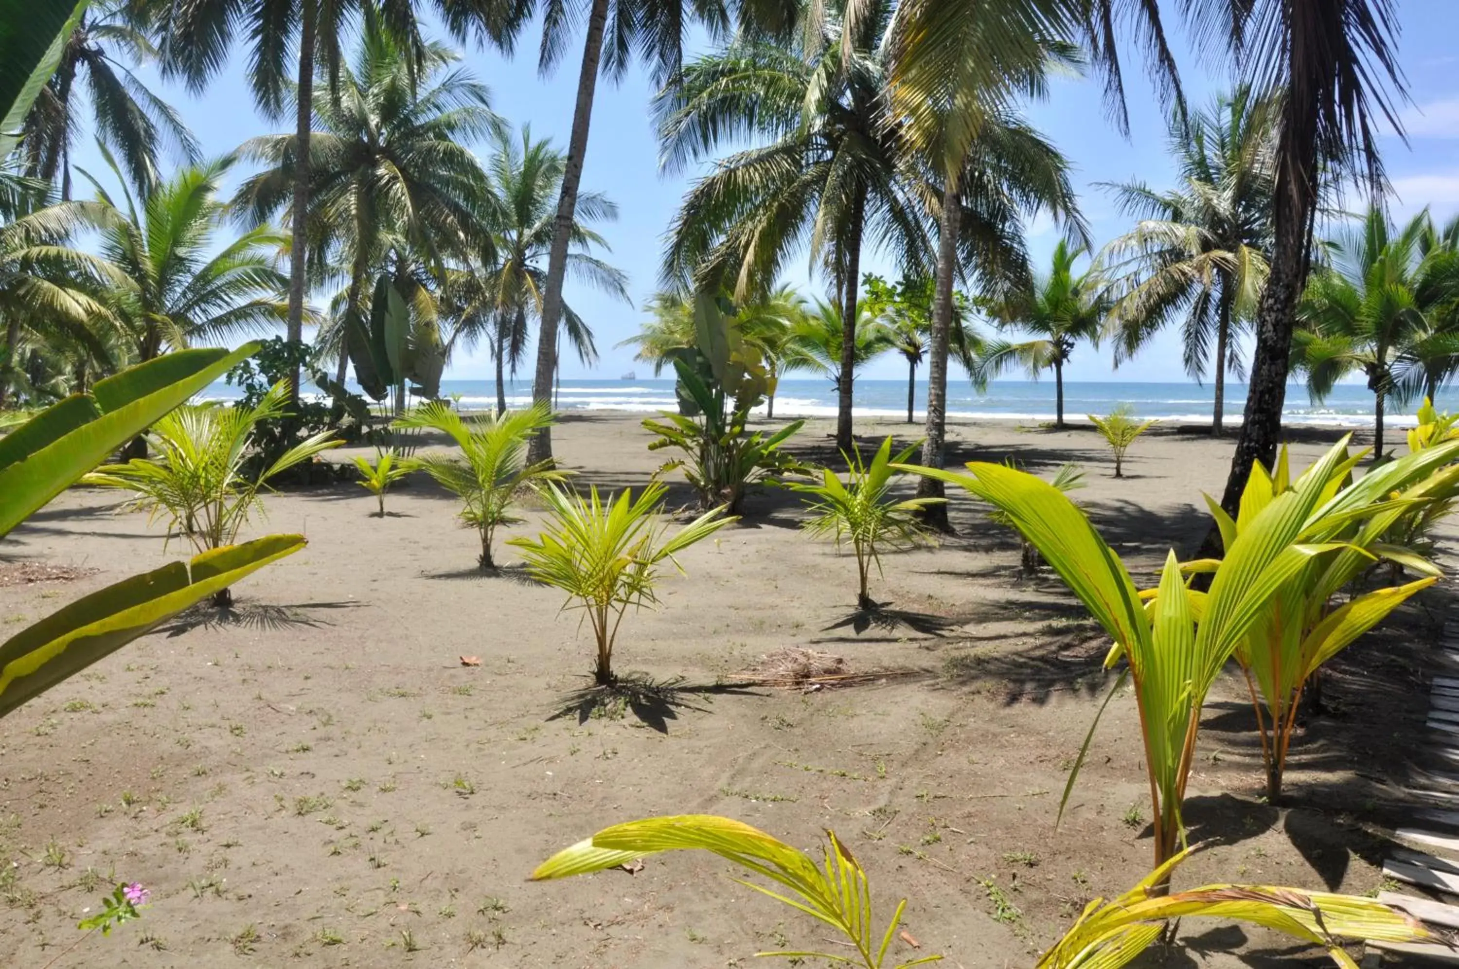
[[(624, 489), (604, 501), (598, 489), (588, 498), (549, 484), (543, 490), (550, 515), (537, 538), (512, 538), (508, 544), (525, 553), (527, 571), (540, 582), (568, 594), (563, 609), (582, 609), (592, 625), (598, 661), (592, 676), (598, 686), (613, 686), (613, 641), (623, 614), (632, 606), (654, 606), (658, 600), (659, 566), (678, 568), (676, 552), (708, 538), (734, 518), (715, 508), (673, 536), (657, 524), (665, 486), (654, 482), (635, 498)], [(680, 569), (683, 572), (683, 569)]]

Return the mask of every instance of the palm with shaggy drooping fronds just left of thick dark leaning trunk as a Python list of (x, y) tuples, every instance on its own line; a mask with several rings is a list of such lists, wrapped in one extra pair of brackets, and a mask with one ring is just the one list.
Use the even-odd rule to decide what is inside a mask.
[(1217, 98), (1210, 111), (1174, 112), (1167, 146), (1177, 187), (1113, 185), (1121, 209), (1139, 222), (1096, 260), (1113, 277), (1106, 325), (1116, 336), (1115, 365), (1179, 320), (1186, 374), (1201, 381), (1212, 360), (1214, 435), (1221, 433), (1226, 374), (1240, 374), (1231, 337), (1256, 315), (1266, 282), (1272, 121), (1274, 105), (1253, 99), (1249, 88)]

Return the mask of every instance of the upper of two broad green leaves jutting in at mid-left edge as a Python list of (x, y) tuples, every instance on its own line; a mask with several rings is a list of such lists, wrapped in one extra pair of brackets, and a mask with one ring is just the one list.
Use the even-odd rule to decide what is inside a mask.
[(108, 377), (0, 438), (0, 537), (258, 349), (181, 350)]

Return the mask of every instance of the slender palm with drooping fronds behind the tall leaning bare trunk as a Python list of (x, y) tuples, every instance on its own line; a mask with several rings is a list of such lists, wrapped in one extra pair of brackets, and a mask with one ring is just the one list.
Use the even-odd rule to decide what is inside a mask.
[[(496, 358), (496, 406), (506, 410), (505, 369), (516, 379), (516, 368), (527, 356), (528, 321), (541, 320), (547, 282), (546, 260), (557, 198), (562, 191), (566, 159), (552, 142), (533, 140), (530, 126), (514, 137), (506, 130), (495, 136), (487, 174), (502, 215), (493, 228), (493, 257), (480, 276), (468, 280), (468, 295), (458, 314), (452, 344), (461, 339), (467, 347), (487, 337)], [(603, 193), (578, 193), (568, 269), (591, 286), (629, 301), (627, 276), (592, 255), (594, 248), (610, 247), (592, 229), (598, 222), (614, 222), (619, 207)], [(569, 346), (584, 366), (597, 362), (592, 330), (572, 306), (563, 305), (563, 330)]]

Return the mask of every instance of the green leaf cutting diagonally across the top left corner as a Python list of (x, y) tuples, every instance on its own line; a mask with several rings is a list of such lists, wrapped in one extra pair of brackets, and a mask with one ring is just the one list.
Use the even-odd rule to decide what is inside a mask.
[(86, 0), (0, 0), (0, 156), (15, 150), (85, 10)]

